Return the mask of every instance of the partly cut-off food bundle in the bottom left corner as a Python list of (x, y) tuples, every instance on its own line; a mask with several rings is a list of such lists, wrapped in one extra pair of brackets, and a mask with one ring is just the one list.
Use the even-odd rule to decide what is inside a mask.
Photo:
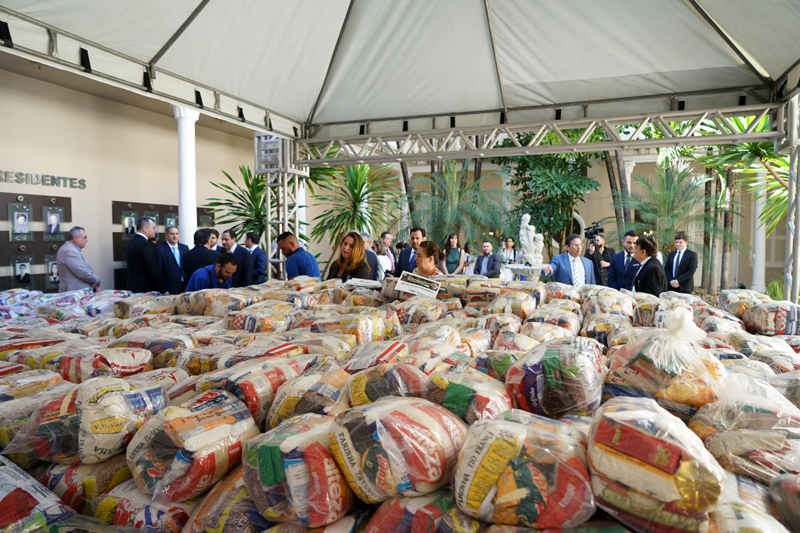
[(58, 496), (0, 456), (0, 531), (33, 531), (73, 514)]

